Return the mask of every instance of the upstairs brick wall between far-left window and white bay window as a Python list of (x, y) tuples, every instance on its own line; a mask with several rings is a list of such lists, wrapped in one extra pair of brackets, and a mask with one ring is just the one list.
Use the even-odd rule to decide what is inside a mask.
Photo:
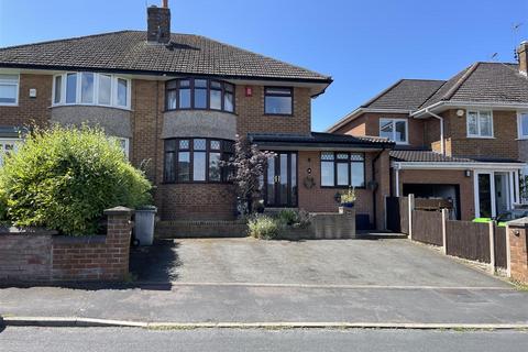
[[(20, 75), (19, 106), (1, 107), (1, 125), (28, 127), (36, 123), (46, 125), (51, 118), (52, 106), (51, 75)], [(30, 89), (36, 89), (36, 98), (30, 98)]]

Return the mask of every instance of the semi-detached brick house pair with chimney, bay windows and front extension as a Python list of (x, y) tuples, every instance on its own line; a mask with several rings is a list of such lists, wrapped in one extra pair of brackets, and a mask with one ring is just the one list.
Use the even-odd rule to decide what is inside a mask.
[(0, 144), (36, 123), (99, 125), (155, 185), (162, 222), (231, 220), (235, 194), (220, 161), (235, 135), (275, 151), (267, 207), (338, 210), (355, 187), (358, 223), (383, 228), (389, 150), (381, 138), (311, 132), (311, 99), (329, 76), (170, 32), (170, 10), (147, 8), (147, 31), (0, 48)]

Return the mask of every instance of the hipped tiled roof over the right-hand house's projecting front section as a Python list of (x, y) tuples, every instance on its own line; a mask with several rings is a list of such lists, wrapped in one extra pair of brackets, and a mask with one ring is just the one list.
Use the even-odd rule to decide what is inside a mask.
[(528, 79), (516, 64), (475, 63), (449, 79), (420, 108), (440, 101), (528, 103)]

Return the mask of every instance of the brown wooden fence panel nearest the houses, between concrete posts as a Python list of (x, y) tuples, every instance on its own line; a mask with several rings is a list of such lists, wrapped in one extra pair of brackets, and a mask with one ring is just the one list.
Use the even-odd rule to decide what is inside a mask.
[(443, 245), (442, 213), (440, 211), (413, 211), (413, 240)]

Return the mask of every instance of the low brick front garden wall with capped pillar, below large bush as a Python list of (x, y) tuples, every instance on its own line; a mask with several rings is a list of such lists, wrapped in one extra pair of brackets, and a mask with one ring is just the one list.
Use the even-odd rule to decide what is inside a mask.
[(113, 208), (106, 235), (0, 229), (0, 282), (121, 280), (129, 273), (131, 210)]

